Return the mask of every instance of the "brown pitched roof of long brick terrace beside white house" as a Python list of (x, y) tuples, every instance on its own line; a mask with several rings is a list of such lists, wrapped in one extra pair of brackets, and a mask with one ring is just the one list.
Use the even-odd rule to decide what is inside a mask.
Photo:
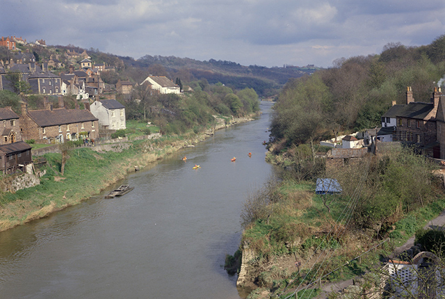
[(56, 108), (53, 111), (31, 110), (29, 117), (38, 124), (39, 127), (60, 126), (60, 124), (74, 124), (76, 122), (92, 122), (97, 120), (88, 110)]

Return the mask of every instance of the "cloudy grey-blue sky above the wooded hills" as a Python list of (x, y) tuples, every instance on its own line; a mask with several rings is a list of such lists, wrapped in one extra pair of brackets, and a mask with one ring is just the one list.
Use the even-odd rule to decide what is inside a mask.
[(444, 0), (0, 0), (3, 36), (138, 59), (330, 67), (445, 33)]

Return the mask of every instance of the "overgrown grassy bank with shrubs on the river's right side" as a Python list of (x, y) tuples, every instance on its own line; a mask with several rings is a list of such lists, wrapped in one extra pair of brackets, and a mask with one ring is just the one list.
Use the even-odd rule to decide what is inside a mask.
[[(341, 195), (315, 193), (314, 179), (326, 175), (320, 161), (286, 154), (291, 159), (282, 179), (248, 195), (241, 213), (243, 255), (249, 258), (243, 257), (238, 283), (259, 289), (248, 298), (286, 298), (320, 277), (324, 284), (362, 275), (445, 209), (435, 166), (405, 150), (331, 174)], [(239, 255), (227, 257), (227, 268), (239, 264)]]

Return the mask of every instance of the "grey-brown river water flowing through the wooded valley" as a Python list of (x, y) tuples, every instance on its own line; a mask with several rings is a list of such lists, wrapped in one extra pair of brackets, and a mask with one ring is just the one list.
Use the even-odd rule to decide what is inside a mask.
[(223, 265), (240, 243), (245, 198), (274, 173), (262, 145), (271, 105), (111, 186), (134, 186), (127, 195), (1, 232), (0, 298), (245, 297)]

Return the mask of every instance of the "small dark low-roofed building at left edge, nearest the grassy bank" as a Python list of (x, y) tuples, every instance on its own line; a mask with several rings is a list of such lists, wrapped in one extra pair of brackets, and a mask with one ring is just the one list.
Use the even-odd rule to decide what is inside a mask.
[(0, 145), (0, 170), (3, 174), (15, 170), (25, 170), (26, 165), (33, 162), (31, 146), (24, 141)]

